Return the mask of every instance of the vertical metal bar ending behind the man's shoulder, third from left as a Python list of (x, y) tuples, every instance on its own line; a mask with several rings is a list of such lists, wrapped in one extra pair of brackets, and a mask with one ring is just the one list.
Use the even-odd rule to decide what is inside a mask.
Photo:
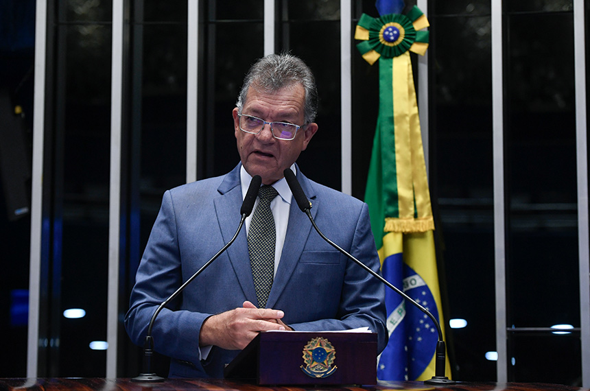
[(187, 183), (197, 180), (199, 2), (189, 1), (187, 47)]

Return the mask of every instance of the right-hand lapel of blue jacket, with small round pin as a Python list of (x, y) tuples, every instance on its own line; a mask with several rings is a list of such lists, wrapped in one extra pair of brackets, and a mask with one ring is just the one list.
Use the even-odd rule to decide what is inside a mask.
[[(307, 198), (311, 201), (311, 216), (316, 217), (316, 213), (320, 207), (320, 202), (316, 198), (316, 192), (311, 187), (311, 182), (307, 179), (297, 167), (297, 180), (299, 181), (301, 188)], [(293, 274), (307, 237), (310, 235), (312, 230), (311, 222), (306, 213), (303, 213), (297, 206), (295, 200), (291, 200), (291, 207), (289, 211), (289, 222), (287, 224), (287, 233), (285, 234), (285, 244), (283, 244), (283, 253), (281, 255), (281, 261), (279, 268), (276, 270), (276, 276), (274, 276), (274, 282), (272, 283), (272, 289), (270, 289), (270, 295), (266, 306), (273, 308), (276, 301), (279, 300), (283, 289), (289, 282), (291, 275)], [(313, 233), (311, 233), (313, 235)], [(280, 309), (280, 308), (279, 308)]]

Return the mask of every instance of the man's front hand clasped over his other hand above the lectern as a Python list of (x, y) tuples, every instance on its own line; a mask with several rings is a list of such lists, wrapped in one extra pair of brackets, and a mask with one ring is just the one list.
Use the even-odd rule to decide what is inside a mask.
[(199, 344), (241, 350), (256, 337), (259, 331), (287, 329), (281, 321), (283, 316), (285, 316), (283, 311), (259, 309), (249, 301), (245, 301), (242, 308), (207, 318), (201, 326)]

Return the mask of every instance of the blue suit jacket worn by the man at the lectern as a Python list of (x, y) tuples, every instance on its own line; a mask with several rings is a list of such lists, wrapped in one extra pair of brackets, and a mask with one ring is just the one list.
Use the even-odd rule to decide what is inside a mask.
[[(240, 165), (224, 176), (166, 191), (137, 270), (125, 327), (143, 346), (156, 307), (206, 263), (235, 234), (242, 203)], [(322, 233), (375, 271), (379, 257), (368, 208), (349, 195), (313, 182), (297, 169)], [(285, 312), (295, 330), (322, 331), (369, 327), (386, 346), (384, 285), (327, 244), (293, 200), (268, 308)], [(169, 377), (223, 377), (224, 364), (239, 351), (213, 346), (199, 360), (199, 333), (211, 314), (257, 304), (246, 230), (207, 270), (169, 303), (152, 329), (154, 349), (172, 357)]]

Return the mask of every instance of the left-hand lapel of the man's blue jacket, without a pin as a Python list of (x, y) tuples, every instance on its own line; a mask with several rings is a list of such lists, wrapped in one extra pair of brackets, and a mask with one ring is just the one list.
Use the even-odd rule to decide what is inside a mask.
[[(242, 203), (239, 180), (240, 167), (241, 165), (237, 165), (235, 169), (226, 175), (217, 189), (221, 193), (220, 196), (213, 200), (224, 243), (231, 240), (241, 218), (239, 215), (239, 207)], [(250, 258), (248, 256), (248, 239), (246, 238), (245, 226), (242, 226), (235, 242), (226, 251), (244, 295), (252, 303), (257, 303)]]

